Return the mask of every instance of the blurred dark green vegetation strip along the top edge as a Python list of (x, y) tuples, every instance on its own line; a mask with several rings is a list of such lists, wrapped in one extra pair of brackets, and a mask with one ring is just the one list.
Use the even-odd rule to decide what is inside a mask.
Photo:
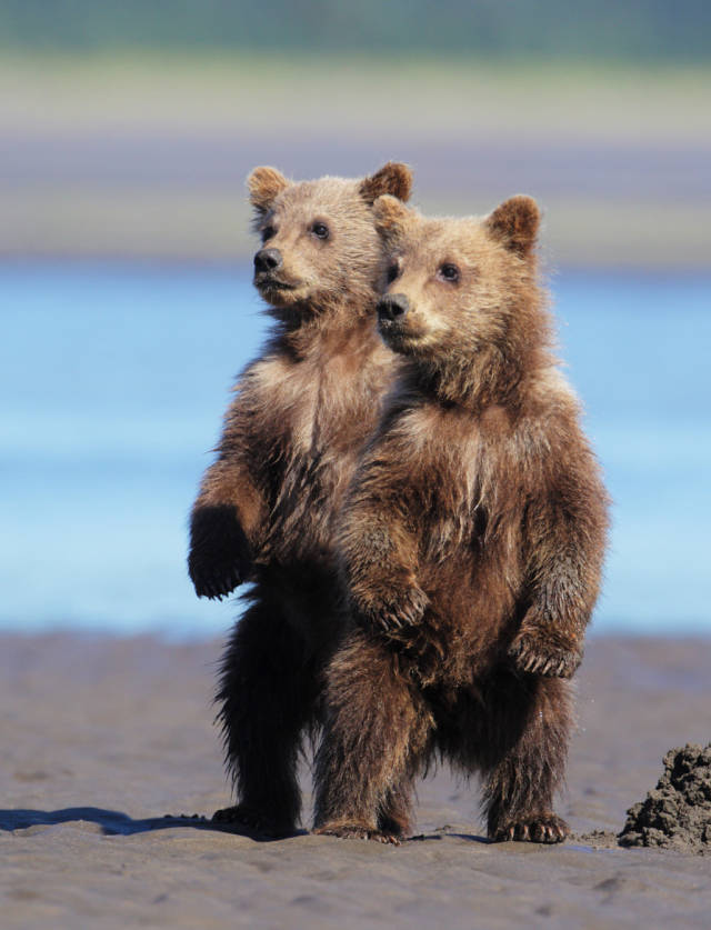
[(0, 0), (0, 46), (702, 61), (708, 0)]

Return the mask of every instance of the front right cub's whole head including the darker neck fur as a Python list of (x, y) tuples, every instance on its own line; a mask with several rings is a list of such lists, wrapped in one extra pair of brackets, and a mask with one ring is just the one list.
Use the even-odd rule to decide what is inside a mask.
[(387, 344), (450, 400), (503, 400), (549, 343), (535, 201), (518, 196), (488, 217), (428, 219), (383, 196), (373, 213), (388, 254), (378, 303)]

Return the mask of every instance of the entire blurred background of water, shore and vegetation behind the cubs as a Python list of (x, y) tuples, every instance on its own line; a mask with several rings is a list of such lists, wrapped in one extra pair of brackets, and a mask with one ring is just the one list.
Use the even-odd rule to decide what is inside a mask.
[(0, 626), (213, 634), (187, 514), (268, 321), (244, 178), (544, 211), (614, 498), (594, 629), (711, 630), (711, 4), (0, 0)]

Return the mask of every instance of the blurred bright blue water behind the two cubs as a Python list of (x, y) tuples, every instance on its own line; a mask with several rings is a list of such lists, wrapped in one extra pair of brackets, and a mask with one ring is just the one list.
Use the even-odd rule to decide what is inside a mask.
[[(711, 630), (711, 278), (551, 286), (614, 498), (595, 629)], [(223, 630), (186, 521), (266, 332), (248, 270), (0, 266), (0, 626)]]

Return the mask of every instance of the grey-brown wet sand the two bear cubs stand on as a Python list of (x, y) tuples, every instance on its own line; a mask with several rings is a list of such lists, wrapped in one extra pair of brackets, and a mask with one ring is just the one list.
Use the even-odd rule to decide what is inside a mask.
[(3, 928), (709, 926), (709, 857), (613, 833), (670, 747), (709, 741), (711, 640), (590, 642), (559, 804), (575, 834), (554, 848), (487, 843), (475, 786), (447, 771), (420, 784), (420, 836), (399, 849), (164, 818), (229, 801), (219, 650), (0, 634)]

